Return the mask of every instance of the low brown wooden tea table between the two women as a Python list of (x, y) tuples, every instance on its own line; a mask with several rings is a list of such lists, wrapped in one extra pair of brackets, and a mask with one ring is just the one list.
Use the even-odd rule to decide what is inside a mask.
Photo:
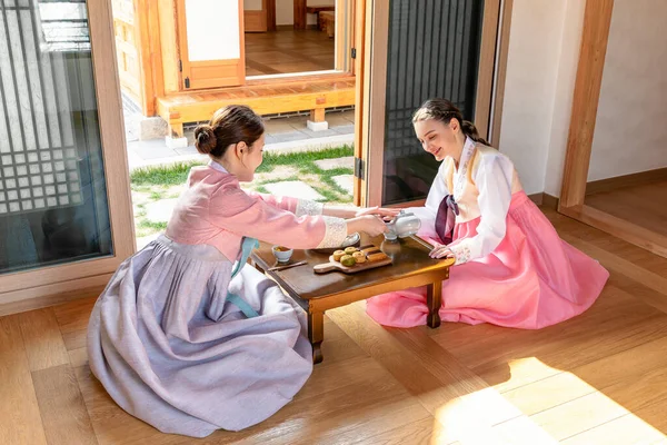
[[(426, 241), (421, 241), (427, 244)], [(307, 260), (303, 266), (285, 270), (266, 271), (288, 295), (308, 313), (308, 338), (312, 344), (312, 360), (322, 360), (321, 343), (325, 337), (325, 312), (376, 295), (401, 290), (409, 287), (427, 286), (429, 315), (427, 324), (431, 328), (440, 326), (438, 309), (441, 305), (442, 281), (449, 278), (449, 267), (454, 259), (431, 259), (429, 248), (414, 238), (386, 241), (380, 235), (369, 238), (361, 235), (361, 246), (374, 244), (394, 260), (392, 265), (347, 275), (340, 271), (316, 274), (315, 265), (329, 261), (328, 254), (315, 250), (295, 250), (290, 263)], [(428, 245), (428, 244), (427, 244)], [(250, 260), (260, 270), (276, 266), (271, 245), (260, 243)]]

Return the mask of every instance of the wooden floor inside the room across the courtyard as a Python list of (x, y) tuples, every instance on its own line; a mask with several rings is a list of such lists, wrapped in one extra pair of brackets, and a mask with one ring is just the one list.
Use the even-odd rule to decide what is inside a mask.
[(334, 58), (335, 39), (320, 30), (246, 33), (246, 76), (332, 70)]

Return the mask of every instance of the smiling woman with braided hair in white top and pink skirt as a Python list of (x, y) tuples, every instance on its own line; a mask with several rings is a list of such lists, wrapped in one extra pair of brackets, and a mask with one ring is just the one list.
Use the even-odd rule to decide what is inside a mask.
[[(558, 237), (524, 191), (515, 167), (488, 147), (448, 100), (427, 100), (412, 118), (424, 149), (441, 161), (424, 207), (419, 235), (434, 258), (456, 265), (442, 283), (445, 322), (537, 329), (586, 310), (609, 277), (600, 264)], [(426, 324), (426, 289), (367, 300), (387, 326)]]

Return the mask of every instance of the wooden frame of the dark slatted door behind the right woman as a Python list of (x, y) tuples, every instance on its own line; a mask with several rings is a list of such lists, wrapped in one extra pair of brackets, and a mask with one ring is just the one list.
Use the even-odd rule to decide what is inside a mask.
[[(387, 47), (389, 38), (389, 8), (374, 0), (359, 1), (365, 8), (365, 27), (357, 36), (357, 56), (362, 62), (357, 70), (357, 128), (355, 132), (355, 157), (364, 160), (364, 179), (355, 177), (355, 204), (359, 206), (379, 206), (382, 200), (382, 169), (385, 157), (385, 108), (387, 88)], [(482, 137), (490, 131), (491, 112), (495, 116), (494, 128), (499, 129), (502, 95), (505, 91), (505, 70), (509, 40), (509, 17), (511, 0), (491, 0), (485, 2), (482, 20), (482, 40), (479, 55), (478, 86), (476, 97), (475, 123)], [(501, 11), (502, 10), (502, 11)], [(499, 19), (506, 27), (498, 34)], [(500, 44), (498, 41), (500, 39)], [(362, 42), (362, 44), (360, 44)], [(499, 48), (499, 51), (497, 51)], [(491, 63), (494, 69), (487, 70)], [(494, 72), (497, 86), (494, 90)], [(494, 102), (495, 97), (495, 102)], [(492, 109), (492, 111), (491, 111)], [(496, 127), (497, 125), (497, 127)], [(356, 162), (359, 162), (356, 159)], [(424, 199), (401, 202), (396, 207), (421, 205)]]

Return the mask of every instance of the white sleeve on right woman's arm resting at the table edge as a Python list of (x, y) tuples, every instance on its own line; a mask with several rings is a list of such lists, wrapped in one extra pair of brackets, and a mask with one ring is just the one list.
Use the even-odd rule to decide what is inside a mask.
[(476, 236), (448, 246), (457, 265), (489, 255), (505, 238), (512, 175), (514, 165), (504, 156), (485, 156), (480, 159), (472, 178), (479, 189), (479, 226)]

